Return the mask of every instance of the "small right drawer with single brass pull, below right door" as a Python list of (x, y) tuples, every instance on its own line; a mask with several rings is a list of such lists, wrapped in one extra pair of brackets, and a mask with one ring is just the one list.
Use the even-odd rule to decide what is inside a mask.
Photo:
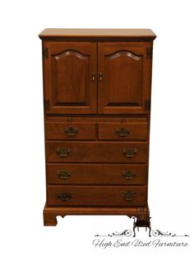
[(99, 140), (146, 140), (147, 123), (99, 123)]

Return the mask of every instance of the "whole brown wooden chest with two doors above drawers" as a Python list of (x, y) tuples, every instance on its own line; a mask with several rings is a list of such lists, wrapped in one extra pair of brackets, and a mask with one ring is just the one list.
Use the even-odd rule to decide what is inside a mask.
[(56, 216), (127, 215), (149, 225), (150, 30), (46, 29), (47, 201)]

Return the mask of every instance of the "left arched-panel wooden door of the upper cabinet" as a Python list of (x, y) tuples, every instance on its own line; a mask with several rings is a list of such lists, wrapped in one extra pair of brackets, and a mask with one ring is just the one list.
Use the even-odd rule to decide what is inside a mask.
[(44, 42), (44, 100), (47, 113), (96, 112), (96, 44)]

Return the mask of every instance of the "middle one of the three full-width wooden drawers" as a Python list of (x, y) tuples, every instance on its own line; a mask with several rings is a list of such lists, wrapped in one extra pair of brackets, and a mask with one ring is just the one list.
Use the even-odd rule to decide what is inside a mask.
[(47, 183), (145, 185), (146, 164), (47, 164)]

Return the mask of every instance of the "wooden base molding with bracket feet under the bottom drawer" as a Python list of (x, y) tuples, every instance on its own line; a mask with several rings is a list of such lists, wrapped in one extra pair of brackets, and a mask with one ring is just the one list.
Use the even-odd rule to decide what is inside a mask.
[[(67, 215), (125, 215), (129, 218), (136, 217), (136, 227), (150, 225), (150, 211), (148, 206), (138, 207), (61, 207), (44, 206), (44, 225), (58, 224), (57, 216)], [(141, 225), (138, 225), (140, 223)], [(142, 225), (145, 223), (145, 225)]]

